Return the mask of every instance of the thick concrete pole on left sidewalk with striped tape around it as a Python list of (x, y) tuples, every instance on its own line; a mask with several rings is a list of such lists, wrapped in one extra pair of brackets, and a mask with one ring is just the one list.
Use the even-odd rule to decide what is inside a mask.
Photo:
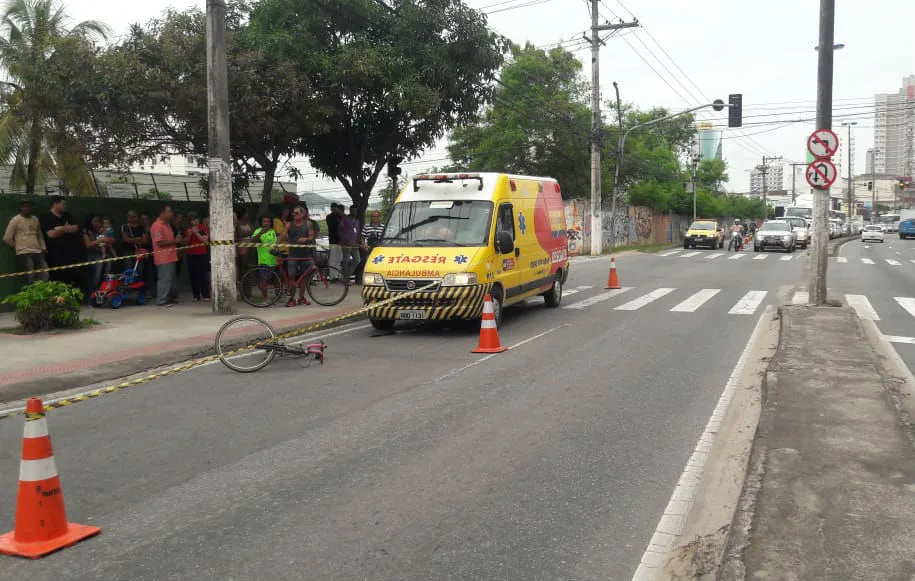
[[(229, 156), (229, 82), (226, 64), (226, 3), (207, 0), (207, 121), (210, 228), (213, 240), (235, 238), (232, 166)], [(211, 248), (213, 313), (235, 311), (235, 247)]]

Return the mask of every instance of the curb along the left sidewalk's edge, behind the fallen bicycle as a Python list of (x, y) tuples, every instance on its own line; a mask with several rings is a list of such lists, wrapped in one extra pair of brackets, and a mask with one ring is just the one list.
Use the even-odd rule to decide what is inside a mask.
[[(320, 324), (324, 321), (335, 319), (339, 316), (340, 315), (333, 315), (327, 318), (317, 319), (309, 323), (309, 325)], [(366, 318), (367, 315), (365, 314), (356, 315), (347, 319), (337, 320), (333, 323), (329, 323), (326, 327), (323, 327), (323, 329), (333, 329), (343, 325), (349, 325)], [(277, 333), (280, 334), (293, 331), (302, 326), (301, 322), (298, 324), (284, 324), (282, 326), (276, 326), (273, 323), (270, 324), (277, 331)], [(216, 336), (216, 330), (218, 330), (218, 326), (213, 330), (214, 338)], [(98, 382), (113, 381), (136, 375), (138, 373), (143, 373), (145, 371), (154, 370), (159, 367), (181, 363), (189, 359), (206, 357), (208, 355), (214, 354), (215, 352), (215, 347), (212, 341), (209, 343), (200, 342), (190, 347), (183, 347), (171, 351), (163, 351), (155, 355), (127, 357), (125, 359), (100, 367), (74, 369), (71, 371), (65, 371), (58, 375), (36, 377), (34, 380), (10, 383), (0, 386), (0, 404), (12, 403), (33, 396), (39, 397), (51, 393), (67, 391), (78, 387), (92, 385)]]

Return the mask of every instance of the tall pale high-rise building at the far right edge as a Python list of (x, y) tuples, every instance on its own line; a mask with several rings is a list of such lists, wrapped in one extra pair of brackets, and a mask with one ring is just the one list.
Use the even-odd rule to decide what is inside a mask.
[(874, 167), (878, 174), (911, 176), (915, 166), (915, 75), (896, 93), (874, 97)]

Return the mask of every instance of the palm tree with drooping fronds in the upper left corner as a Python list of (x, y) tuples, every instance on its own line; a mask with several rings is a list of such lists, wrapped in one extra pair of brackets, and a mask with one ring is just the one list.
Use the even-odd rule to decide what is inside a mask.
[(0, 164), (12, 167), (11, 186), (35, 186), (48, 176), (72, 185), (88, 173), (78, 143), (55, 121), (50, 87), (55, 53), (66, 42), (105, 40), (107, 26), (85, 21), (68, 26), (57, 0), (8, 0), (0, 16)]

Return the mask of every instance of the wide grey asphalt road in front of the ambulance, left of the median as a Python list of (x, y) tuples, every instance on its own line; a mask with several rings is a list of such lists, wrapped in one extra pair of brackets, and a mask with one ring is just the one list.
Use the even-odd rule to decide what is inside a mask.
[[(357, 324), (323, 367), (215, 364), (50, 412), (69, 517), (103, 532), (0, 579), (629, 579), (804, 273), (695, 252), (620, 256), (611, 294), (606, 259), (577, 262), (563, 308), (506, 310), (495, 356), (473, 329)], [(4, 530), (21, 437), (0, 421)]]

